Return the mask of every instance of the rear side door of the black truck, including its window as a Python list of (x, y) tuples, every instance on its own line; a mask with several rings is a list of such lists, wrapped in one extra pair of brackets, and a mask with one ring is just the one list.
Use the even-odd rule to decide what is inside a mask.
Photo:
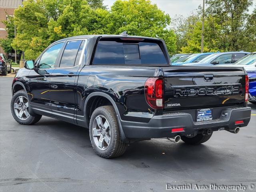
[(57, 67), (50, 78), (52, 115), (56, 118), (74, 122), (76, 110), (75, 80), (81, 64), (82, 50), (86, 40), (69, 40), (60, 56)]

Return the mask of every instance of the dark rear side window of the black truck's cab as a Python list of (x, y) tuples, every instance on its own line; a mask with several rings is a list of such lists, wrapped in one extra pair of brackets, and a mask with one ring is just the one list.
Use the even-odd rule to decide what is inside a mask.
[[(81, 49), (84, 45), (84, 41), (76, 40), (76, 41), (68, 41), (64, 52), (62, 54), (62, 58), (60, 61), (60, 68), (61, 67), (73, 67), (78, 64), (80, 56), (81, 56)], [(78, 52), (81, 50), (80, 52)], [(79, 56), (78, 56), (79, 55)]]

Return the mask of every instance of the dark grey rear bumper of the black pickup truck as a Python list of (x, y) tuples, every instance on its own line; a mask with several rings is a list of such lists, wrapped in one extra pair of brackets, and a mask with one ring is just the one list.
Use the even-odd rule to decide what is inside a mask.
[[(217, 131), (219, 128), (232, 130), (247, 126), (251, 118), (250, 107), (225, 108), (221, 114), (227, 113), (226, 117), (220, 115), (215, 120), (194, 122), (188, 113), (169, 113), (153, 116), (149, 122), (120, 121), (122, 132), (126, 138), (166, 138), (176, 135), (190, 135), (203, 132), (208, 129)], [(243, 120), (243, 124), (235, 125), (235, 121)], [(182, 132), (172, 133), (172, 128), (184, 128)]]

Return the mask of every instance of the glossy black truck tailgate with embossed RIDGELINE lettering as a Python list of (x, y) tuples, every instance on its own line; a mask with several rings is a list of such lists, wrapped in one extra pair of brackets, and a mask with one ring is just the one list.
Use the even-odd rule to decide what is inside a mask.
[(163, 67), (164, 108), (205, 108), (244, 102), (245, 72), (234, 67)]

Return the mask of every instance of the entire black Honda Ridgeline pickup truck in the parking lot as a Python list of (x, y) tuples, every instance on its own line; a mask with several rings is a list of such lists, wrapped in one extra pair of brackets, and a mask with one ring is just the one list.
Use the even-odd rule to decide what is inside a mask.
[(104, 158), (150, 138), (200, 144), (238, 133), (251, 114), (244, 68), (171, 66), (163, 40), (126, 34), (52, 43), (18, 71), (12, 95), (18, 123), (45, 115), (89, 128)]

